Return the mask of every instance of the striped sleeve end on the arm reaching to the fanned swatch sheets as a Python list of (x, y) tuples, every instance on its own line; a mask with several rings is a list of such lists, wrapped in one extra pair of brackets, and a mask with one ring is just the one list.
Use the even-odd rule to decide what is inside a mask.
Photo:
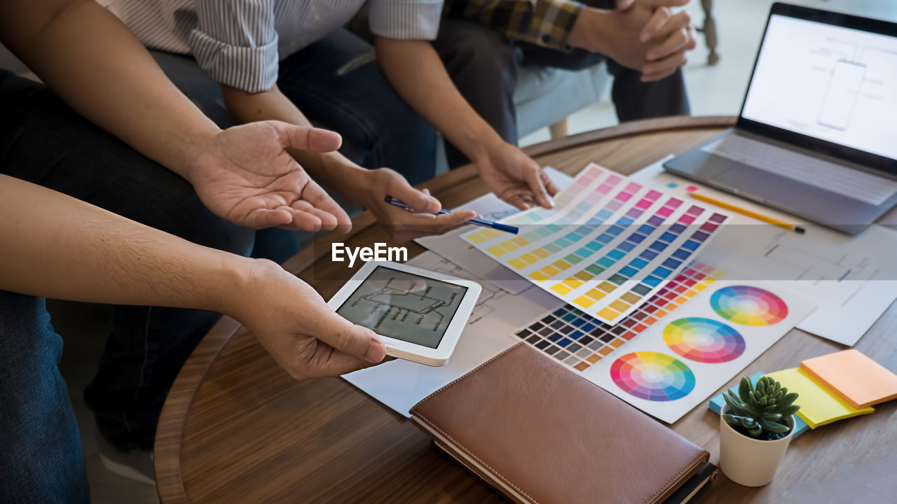
[(370, 30), (388, 39), (436, 39), (442, 0), (370, 0)]

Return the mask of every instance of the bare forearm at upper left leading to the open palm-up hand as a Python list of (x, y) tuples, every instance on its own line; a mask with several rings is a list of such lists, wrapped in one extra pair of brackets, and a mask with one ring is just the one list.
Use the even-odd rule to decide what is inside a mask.
[(8, 0), (0, 20), (3, 43), (63, 100), (181, 176), (220, 131), (94, 1)]

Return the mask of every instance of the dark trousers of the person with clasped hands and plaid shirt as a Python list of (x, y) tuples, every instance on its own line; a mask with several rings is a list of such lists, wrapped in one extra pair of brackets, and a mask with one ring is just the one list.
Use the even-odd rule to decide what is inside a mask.
[[(582, 49), (564, 52), (512, 41), (483, 24), (453, 18), (442, 18), (433, 47), (458, 91), (508, 143), (518, 142), (514, 89), (521, 65), (579, 70), (606, 61), (608, 71), (614, 75), (611, 97), (621, 122), (687, 115), (690, 111), (681, 70), (658, 82), (642, 83), (639, 72), (606, 56)], [(446, 145), (446, 154), (452, 168), (469, 162), (452, 145)]]

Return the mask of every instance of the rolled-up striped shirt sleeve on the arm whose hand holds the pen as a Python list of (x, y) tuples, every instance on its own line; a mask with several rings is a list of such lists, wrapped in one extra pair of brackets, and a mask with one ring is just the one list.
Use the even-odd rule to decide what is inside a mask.
[(274, 0), (196, 0), (187, 37), (196, 62), (218, 83), (247, 92), (277, 82)]

